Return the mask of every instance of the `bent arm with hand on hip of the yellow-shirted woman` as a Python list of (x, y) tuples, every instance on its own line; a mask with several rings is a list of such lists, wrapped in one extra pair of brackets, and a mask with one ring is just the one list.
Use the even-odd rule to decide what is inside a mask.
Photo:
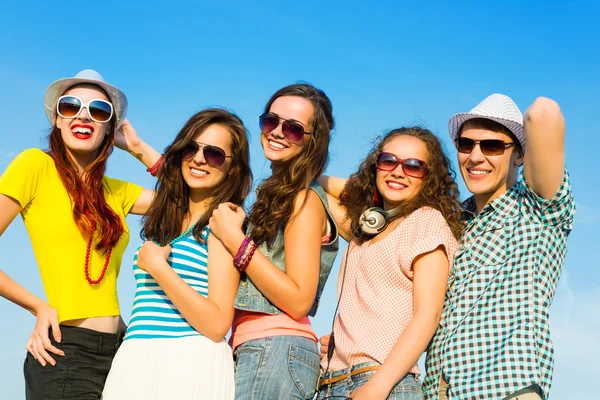
[[(21, 211), (21, 204), (9, 196), (0, 194), (0, 210), (0, 236), (2, 236), (6, 228), (8, 228)], [(46, 365), (46, 362), (56, 365), (56, 361), (48, 354), (47, 350), (64, 356), (62, 350), (54, 347), (48, 337), (48, 328), (51, 327), (52, 335), (56, 341), (60, 342), (61, 340), (60, 328), (58, 326), (58, 312), (44, 300), (30, 293), (23, 286), (12, 280), (2, 270), (0, 270), (0, 296), (36, 316), (35, 329), (27, 342), (26, 348), (43, 366)]]

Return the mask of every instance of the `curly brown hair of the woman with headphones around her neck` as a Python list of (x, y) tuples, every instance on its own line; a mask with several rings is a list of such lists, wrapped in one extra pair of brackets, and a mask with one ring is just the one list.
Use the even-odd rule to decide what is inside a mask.
[[(428, 129), (419, 126), (398, 128), (387, 133), (375, 143), (373, 149), (360, 164), (358, 171), (350, 176), (340, 195), (340, 202), (346, 207), (346, 216), (351, 221), (352, 232), (359, 230), (360, 216), (365, 210), (370, 207), (381, 206), (375, 201), (377, 190), (375, 159), (383, 151), (386, 144), (399, 136), (412, 136), (425, 143), (429, 173), (423, 179), (423, 186), (419, 194), (415, 198), (404, 202), (402, 212), (396, 218), (405, 217), (421, 207), (434, 208), (442, 213), (452, 234), (457, 240), (460, 240), (463, 225), (460, 219), (461, 202), (459, 200), (458, 185), (454, 181), (456, 173), (452, 169), (450, 160), (446, 156), (437, 136)], [(369, 239), (367, 235), (358, 237), (359, 242), (364, 242), (367, 239)]]

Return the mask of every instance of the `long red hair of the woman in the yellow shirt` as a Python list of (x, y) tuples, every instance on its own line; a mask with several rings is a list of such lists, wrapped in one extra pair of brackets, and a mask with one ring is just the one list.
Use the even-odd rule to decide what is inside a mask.
[[(76, 86), (79, 85), (72, 86), (68, 90)], [(102, 88), (92, 86), (110, 99)], [(67, 152), (56, 121), (47, 138), (49, 143), (47, 154), (54, 160), (58, 176), (71, 199), (75, 225), (83, 237), (89, 237), (92, 234), (91, 228), (94, 227), (95, 234), (99, 237), (98, 244), (95, 246), (98, 250), (115, 247), (124, 230), (121, 218), (110, 208), (104, 198), (103, 178), (106, 172), (106, 161), (114, 148), (115, 131), (116, 116), (113, 116), (106, 130), (106, 136), (97, 150), (96, 158), (81, 175)]]

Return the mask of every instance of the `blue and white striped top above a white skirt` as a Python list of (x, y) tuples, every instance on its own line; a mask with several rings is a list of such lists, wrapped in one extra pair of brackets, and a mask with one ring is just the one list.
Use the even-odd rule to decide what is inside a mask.
[[(180, 238), (171, 246), (167, 262), (192, 288), (208, 297), (208, 227), (202, 230), (204, 244), (193, 234)], [(140, 246), (141, 247), (141, 246)], [(152, 276), (137, 266), (138, 247), (133, 257), (133, 274), (136, 281), (131, 320), (125, 339), (180, 338), (201, 335), (181, 315), (173, 302)]]

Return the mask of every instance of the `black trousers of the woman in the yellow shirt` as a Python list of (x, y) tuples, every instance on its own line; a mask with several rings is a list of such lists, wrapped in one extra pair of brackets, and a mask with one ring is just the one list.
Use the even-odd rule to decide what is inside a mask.
[(60, 343), (52, 332), (49, 335), (52, 345), (65, 352), (64, 357), (51, 354), (55, 366), (47, 363), (42, 367), (27, 352), (23, 365), (26, 399), (99, 399), (122, 335), (64, 325), (60, 331)]

